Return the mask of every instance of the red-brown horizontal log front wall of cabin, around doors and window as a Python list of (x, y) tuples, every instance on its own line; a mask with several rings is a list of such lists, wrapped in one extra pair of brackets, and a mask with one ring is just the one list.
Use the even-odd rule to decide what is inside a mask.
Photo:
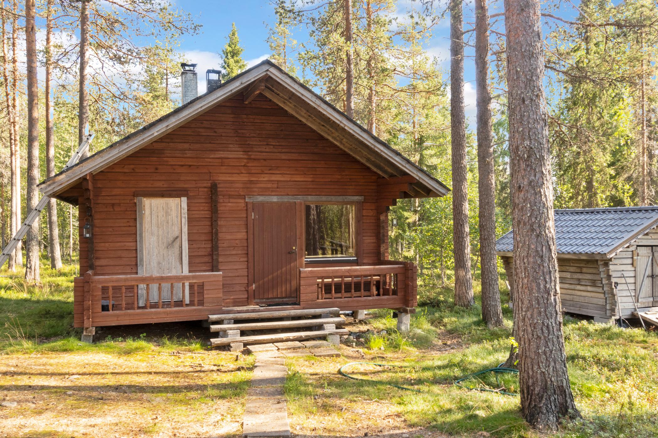
[(247, 305), (245, 195), (364, 196), (363, 263), (377, 263), (377, 178), (263, 95), (236, 96), (94, 175), (95, 274), (137, 274), (136, 190), (189, 192), (190, 273), (213, 271), (213, 182), (224, 306)]

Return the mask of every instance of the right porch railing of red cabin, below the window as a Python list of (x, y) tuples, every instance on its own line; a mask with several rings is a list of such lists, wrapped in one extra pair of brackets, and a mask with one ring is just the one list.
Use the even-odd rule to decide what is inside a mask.
[(351, 303), (367, 307), (367, 303), (386, 301), (413, 307), (416, 301), (416, 271), (411, 262), (304, 268), (299, 270), (299, 283), (304, 302), (336, 300), (336, 306)]

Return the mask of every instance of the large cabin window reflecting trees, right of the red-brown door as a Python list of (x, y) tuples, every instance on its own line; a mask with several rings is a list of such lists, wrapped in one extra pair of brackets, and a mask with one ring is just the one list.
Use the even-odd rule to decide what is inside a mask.
[(305, 204), (306, 263), (356, 262), (356, 205)]

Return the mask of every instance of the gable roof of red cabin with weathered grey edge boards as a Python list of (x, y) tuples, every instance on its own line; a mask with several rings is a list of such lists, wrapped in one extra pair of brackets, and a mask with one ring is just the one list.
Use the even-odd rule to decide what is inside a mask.
[(422, 167), (411, 162), (270, 60), (264, 60), (245, 70), (215, 90), (190, 100), (123, 139), (49, 177), (39, 185), (39, 190), (47, 196), (56, 196), (66, 188), (76, 185), (86, 174), (105, 169), (224, 100), (252, 91), (263, 93), (381, 177), (413, 177), (417, 182), (412, 183), (410, 190), (418, 197), (443, 196), (449, 192), (443, 183)]

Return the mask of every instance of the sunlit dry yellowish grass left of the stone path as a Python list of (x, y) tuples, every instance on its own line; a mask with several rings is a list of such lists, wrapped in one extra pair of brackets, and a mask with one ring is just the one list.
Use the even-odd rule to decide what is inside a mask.
[[(250, 357), (204, 351), (0, 356), (3, 437), (240, 435)], [(9, 403), (11, 405), (11, 403)]]

